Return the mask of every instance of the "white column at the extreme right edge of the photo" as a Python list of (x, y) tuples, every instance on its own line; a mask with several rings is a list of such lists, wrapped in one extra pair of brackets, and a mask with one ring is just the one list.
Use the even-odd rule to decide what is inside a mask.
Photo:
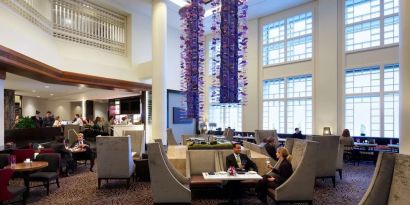
[(410, 154), (410, 1), (400, 0), (400, 153)]

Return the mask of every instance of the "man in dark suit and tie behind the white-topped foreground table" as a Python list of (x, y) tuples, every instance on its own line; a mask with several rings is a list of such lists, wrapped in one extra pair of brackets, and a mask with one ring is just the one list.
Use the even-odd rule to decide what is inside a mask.
[(258, 172), (256, 164), (246, 154), (241, 153), (241, 145), (233, 144), (233, 153), (226, 157), (226, 167), (235, 167), (240, 171)]

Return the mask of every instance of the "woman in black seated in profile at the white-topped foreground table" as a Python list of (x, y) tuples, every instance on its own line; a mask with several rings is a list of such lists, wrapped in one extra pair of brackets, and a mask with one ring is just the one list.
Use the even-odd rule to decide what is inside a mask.
[(258, 199), (263, 203), (266, 203), (268, 188), (276, 189), (293, 173), (292, 165), (290, 164), (292, 156), (289, 155), (288, 150), (284, 147), (280, 147), (276, 152), (276, 156), (279, 161), (276, 163), (275, 167), (272, 167), (270, 164), (267, 165), (268, 168), (272, 169), (272, 172), (270, 172), (269, 175), (264, 175), (263, 179), (259, 180), (256, 185), (255, 191)]

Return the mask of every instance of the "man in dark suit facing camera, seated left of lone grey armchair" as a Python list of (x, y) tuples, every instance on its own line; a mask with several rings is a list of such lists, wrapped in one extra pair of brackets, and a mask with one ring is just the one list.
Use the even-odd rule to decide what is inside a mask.
[(91, 161), (91, 167), (90, 167), (90, 171), (93, 171), (93, 167), (94, 167), (94, 153), (90, 148), (90, 143), (86, 142), (84, 140), (84, 134), (83, 133), (79, 133), (77, 135), (77, 141), (75, 141), (72, 145), (71, 148), (75, 148), (75, 149), (80, 149), (83, 151), (80, 152), (75, 152), (73, 153), (73, 158), (75, 161), (78, 160), (90, 160)]

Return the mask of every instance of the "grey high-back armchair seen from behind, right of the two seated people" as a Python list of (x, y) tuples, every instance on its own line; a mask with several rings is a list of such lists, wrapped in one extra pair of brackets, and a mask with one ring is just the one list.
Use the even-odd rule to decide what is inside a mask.
[(103, 179), (125, 179), (129, 187), (135, 166), (130, 137), (98, 136), (96, 145), (98, 188)]

